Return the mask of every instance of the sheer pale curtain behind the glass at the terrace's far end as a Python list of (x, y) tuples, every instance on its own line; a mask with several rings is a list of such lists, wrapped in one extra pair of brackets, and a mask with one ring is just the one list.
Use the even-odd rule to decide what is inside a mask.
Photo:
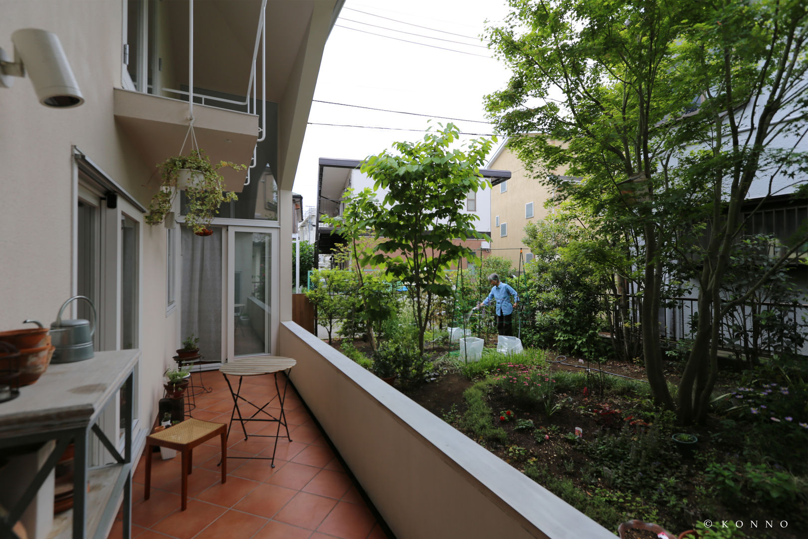
[(205, 360), (222, 360), (221, 354), (221, 257), (222, 229), (200, 237), (183, 226), (182, 335), (199, 337)]

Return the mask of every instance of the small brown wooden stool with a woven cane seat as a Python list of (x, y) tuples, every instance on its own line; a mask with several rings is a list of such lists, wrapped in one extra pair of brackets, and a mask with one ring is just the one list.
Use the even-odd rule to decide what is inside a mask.
[(224, 423), (211, 423), (199, 419), (186, 419), (164, 431), (146, 436), (146, 487), (144, 499), (149, 499), (151, 490), (151, 460), (152, 447), (176, 449), (182, 454), (183, 466), (183, 505), (187, 507), (188, 474), (193, 466), (193, 449), (214, 436), (221, 436), (221, 482), (227, 481), (227, 425)]

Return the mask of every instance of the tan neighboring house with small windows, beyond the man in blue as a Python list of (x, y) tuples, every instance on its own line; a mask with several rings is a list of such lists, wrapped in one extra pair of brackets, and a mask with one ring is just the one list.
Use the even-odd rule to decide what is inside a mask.
[[(530, 248), (522, 242), (524, 226), (548, 216), (551, 210), (545, 208), (545, 202), (553, 192), (550, 187), (528, 176), (524, 164), (507, 148), (507, 142), (506, 137), (488, 161), (489, 168), (511, 171), (511, 179), (491, 182), (494, 184), (490, 212), (491, 255), (511, 260), (513, 267), (519, 269), (520, 250), (523, 265), (533, 257)], [(562, 177), (565, 177), (564, 172), (560, 169), (553, 171)]]

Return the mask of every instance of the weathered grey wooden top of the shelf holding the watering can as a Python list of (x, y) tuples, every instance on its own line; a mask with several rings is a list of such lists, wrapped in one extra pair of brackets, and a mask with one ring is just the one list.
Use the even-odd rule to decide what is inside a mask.
[(19, 397), (0, 404), (0, 439), (87, 427), (132, 372), (140, 350), (95, 352), (90, 360), (52, 364)]

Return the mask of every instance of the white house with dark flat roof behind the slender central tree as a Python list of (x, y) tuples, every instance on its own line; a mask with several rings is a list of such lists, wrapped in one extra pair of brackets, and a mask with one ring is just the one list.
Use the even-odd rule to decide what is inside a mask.
[[(336, 217), (342, 215), (344, 208), (343, 196), (348, 188), (354, 191), (361, 191), (365, 187), (373, 188), (374, 181), (360, 172), (360, 161), (357, 159), (330, 159), (320, 158), (318, 171), (318, 215)], [(489, 179), (491, 183), (508, 179), (511, 173), (508, 171), (497, 171), (482, 169), (482, 176)], [(379, 202), (384, 200), (386, 191), (384, 189), (376, 192)], [(480, 192), (469, 193), (465, 200), (464, 213), (473, 213), (479, 217), (477, 231), (480, 234), (491, 234), (490, 228), (490, 194), (491, 188), (486, 187)], [(322, 222), (317, 224), (317, 252), (320, 255), (333, 252), (335, 246), (342, 242), (337, 234), (331, 234), (333, 228)], [(485, 257), (490, 254), (490, 242), (488, 240), (469, 239), (463, 242), (479, 255)], [(465, 267), (465, 266), (464, 266)]]

